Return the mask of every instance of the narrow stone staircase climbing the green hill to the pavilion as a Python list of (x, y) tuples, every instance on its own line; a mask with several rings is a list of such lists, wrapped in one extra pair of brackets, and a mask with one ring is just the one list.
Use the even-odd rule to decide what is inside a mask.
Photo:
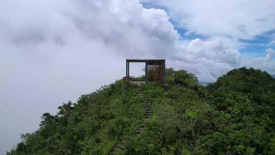
[[(144, 102), (144, 107), (145, 107), (145, 119), (148, 119), (151, 117), (152, 115), (152, 105), (150, 103), (150, 100), (147, 98), (147, 96), (145, 95), (142, 86), (137, 84), (135, 85), (135, 88), (137, 90), (137, 92), (139, 92), (139, 94), (142, 96), (143, 98), (143, 102)], [(143, 130), (144, 127), (146, 125), (146, 121), (145, 119), (143, 120), (143, 122), (141, 123), (141, 125), (137, 128), (137, 130), (135, 131), (135, 135), (139, 135)], [(116, 152), (118, 151), (122, 151), (123, 150), (123, 145), (122, 143), (118, 143), (114, 149), (109, 153), (109, 155), (115, 155)]]

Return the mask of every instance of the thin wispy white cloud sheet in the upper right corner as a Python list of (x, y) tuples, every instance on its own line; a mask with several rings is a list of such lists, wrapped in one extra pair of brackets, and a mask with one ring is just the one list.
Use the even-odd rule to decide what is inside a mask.
[[(275, 30), (275, 1), (143, 1), (167, 8), (177, 27), (238, 42)], [(239, 44), (239, 43), (237, 43)]]

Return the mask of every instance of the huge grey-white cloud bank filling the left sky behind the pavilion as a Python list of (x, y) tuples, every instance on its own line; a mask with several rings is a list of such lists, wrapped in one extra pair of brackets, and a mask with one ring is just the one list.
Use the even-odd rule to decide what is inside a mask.
[(226, 39), (184, 46), (166, 11), (135, 0), (4, 0), (0, 9), (0, 133), (10, 140), (0, 140), (4, 151), (18, 134), (36, 130), (42, 113), (121, 79), (125, 58), (166, 58), (168, 67), (205, 82), (240, 64)]

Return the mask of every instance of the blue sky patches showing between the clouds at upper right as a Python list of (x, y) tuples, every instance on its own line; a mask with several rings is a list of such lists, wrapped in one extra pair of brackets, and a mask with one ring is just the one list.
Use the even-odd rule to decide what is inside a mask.
[[(166, 3), (163, 1), (150, 1), (150, 0), (149, 1), (141, 1), (144, 8), (148, 8), (148, 9), (155, 8), (155, 9), (165, 10), (168, 13), (168, 15), (170, 17), (172, 17), (172, 18), (170, 18), (170, 22), (173, 23), (174, 28), (180, 34), (182, 40), (193, 40), (196, 38), (200, 38), (201, 40), (210, 40), (212, 38), (211, 34), (205, 35), (205, 34), (202, 34), (200, 32), (196, 32), (196, 31), (192, 31), (191, 33), (188, 33), (190, 30), (188, 30), (188, 28), (186, 28), (184, 25), (179, 23), (179, 22), (181, 22), (181, 20), (184, 20), (184, 18), (173, 17), (173, 16), (175, 16), (175, 14), (174, 14), (175, 9), (177, 9), (177, 12), (182, 11), (182, 12), (188, 13), (188, 11), (185, 11), (184, 8), (182, 8), (182, 10), (181, 10), (180, 3), (178, 5), (179, 7), (174, 5), (175, 3), (178, 3), (179, 1), (170, 1), (170, 2), (171, 3), (169, 3), (169, 2)], [(182, 1), (182, 2), (184, 2), (184, 1)], [(270, 1), (266, 1), (266, 2), (270, 3), (270, 9), (271, 9), (271, 6), (272, 6), (272, 4), (274, 4), (274, 2), (270, 2)], [(257, 3), (256, 3), (256, 5), (257, 5)], [(244, 8), (250, 7), (250, 5), (243, 6), (243, 7)], [(252, 7), (254, 7), (254, 6), (252, 5)], [(211, 9), (211, 8), (209, 8), (209, 9)], [(259, 8), (259, 10), (260, 10), (260, 8)], [(266, 12), (268, 12), (268, 10)], [(177, 14), (179, 14), (179, 13), (177, 13)], [(270, 14), (274, 14), (274, 11), (271, 11)], [(253, 16), (253, 14), (251, 14), (251, 16)], [(272, 18), (272, 17), (270, 16), (269, 18)], [(266, 19), (263, 17), (259, 21), (261, 22), (261, 21), (265, 21), (265, 20)], [(207, 24), (207, 23), (205, 23), (205, 24)], [(202, 27), (203, 27), (203, 25), (202, 25)], [(228, 25), (228, 27), (230, 27), (230, 25)], [(256, 27), (255, 29), (258, 29), (258, 28)], [(223, 37), (232, 38), (232, 36), (223, 34), (222, 32), (220, 35), (222, 35)], [(250, 56), (250, 57), (255, 57), (255, 58), (265, 57), (266, 49), (275, 47), (275, 42), (274, 42), (275, 29), (271, 29), (271, 30), (267, 29), (267, 31), (262, 30), (260, 33), (257, 33), (257, 35), (251, 36), (249, 39), (245, 39), (242, 37), (235, 37), (234, 40), (236, 42), (238, 42), (238, 44), (239, 44), (237, 46), (234, 46), (234, 48), (237, 49), (243, 56)], [(270, 44), (272, 41), (273, 41), (273, 43)]]

